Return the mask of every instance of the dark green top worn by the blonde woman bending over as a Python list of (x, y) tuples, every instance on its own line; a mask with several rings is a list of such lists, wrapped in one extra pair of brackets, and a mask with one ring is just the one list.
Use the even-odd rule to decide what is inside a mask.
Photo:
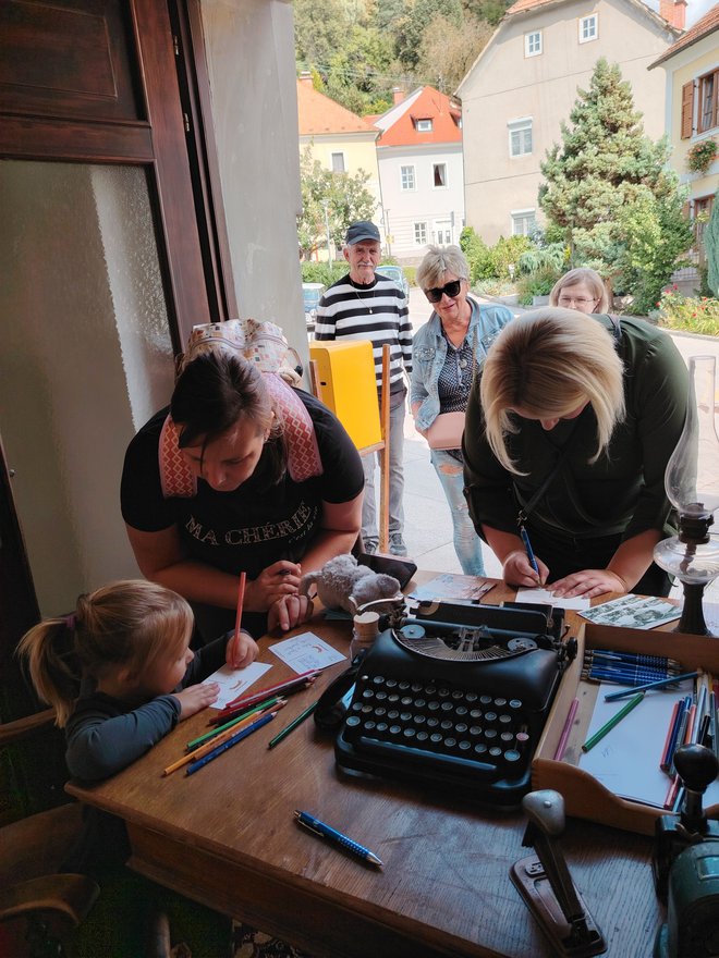
[[(613, 336), (606, 316), (601, 322)], [(539, 422), (517, 417), (519, 431), (507, 437), (510, 457), (526, 476), (508, 472), (489, 447), (474, 383), (464, 427), (464, 481), (477, 531), (483, 525), (516, 531), (519, 504), (528, 502), (551, 471), (574, 423), (568, 453), (528, 527), (578, 538), (622, 533), (622, 539), (659, 529), (672, 535), (665, 469), (681, 435), (686, 412), (687, 372), (671, 337), (643, 320), (622, 318), (617, 349), (624, 363), (626, 417), (614, 428), (596, 463), (596, 418), (587, 406), (576, 420), (546, 432)]]

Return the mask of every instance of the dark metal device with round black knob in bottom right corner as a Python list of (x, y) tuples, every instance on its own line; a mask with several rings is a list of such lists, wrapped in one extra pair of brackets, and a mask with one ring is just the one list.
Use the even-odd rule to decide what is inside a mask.
[(707, 819), (703, 797), (717, 777), (715, 753), (700, 745), (677, 749), (674, 766), (684, 785), (679, 814), (662, 815), (655, 832), (654, 877), (667, 904), (655, 958), (719, 956), (719, 822)]

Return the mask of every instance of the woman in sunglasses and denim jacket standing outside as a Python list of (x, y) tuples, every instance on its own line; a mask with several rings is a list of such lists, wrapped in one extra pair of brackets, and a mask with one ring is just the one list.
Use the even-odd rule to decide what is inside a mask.
[[(412, 415), (429, 443), (431, 464), (447, 496), (462, 572), (483, 576), (482, 542), (463, 494), (460, 445), (474, 372), (512, 314), (505, 306), (485, 306), (467, 296), (470, 267), (459, 246), (430, 246), (416, 280), (435, 308), (412, 341)], [(453, 427), (449, 435), (442, 434), (444, 422)]]

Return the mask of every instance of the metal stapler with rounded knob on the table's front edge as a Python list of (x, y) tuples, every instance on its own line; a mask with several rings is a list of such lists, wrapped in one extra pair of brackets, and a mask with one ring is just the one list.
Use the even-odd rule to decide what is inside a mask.
[(607, 950), (605, 938), (576, 889), (559, 838), (564, 834), (564, 799), (551, 788), (522, 799), (529, 819), (524, 846), (536, 855), (512, 865), (510, 876), (551, 939), (557, 955), (585, 958)]

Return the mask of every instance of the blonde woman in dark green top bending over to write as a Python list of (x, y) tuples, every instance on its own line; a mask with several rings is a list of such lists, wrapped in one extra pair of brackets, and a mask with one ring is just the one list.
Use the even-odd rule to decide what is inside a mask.
[(686, 367), (642, 320), (589, 319), (539, 309), (497, 339), (467, 406), (470, 512), (510, 585), (666, 595), (651, 558), (673, 532), (665, 469), (684, 425)]

